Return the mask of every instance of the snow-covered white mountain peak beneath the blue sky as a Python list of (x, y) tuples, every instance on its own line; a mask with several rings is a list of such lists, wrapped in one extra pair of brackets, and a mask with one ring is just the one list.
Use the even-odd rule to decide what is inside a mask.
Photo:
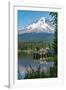
[(24, 33), (54, 33), (54, 26), (51, 21), (41, 17), (39, 20), (36, 20), (24, 29), (18, 30), (18, 34)]

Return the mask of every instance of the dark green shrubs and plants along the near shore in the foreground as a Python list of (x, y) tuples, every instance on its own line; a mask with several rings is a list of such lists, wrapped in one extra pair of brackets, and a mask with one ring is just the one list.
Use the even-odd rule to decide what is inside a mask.
[[(30, 67), (30, 71), (28, 70), (28, 67)], [(35, 78), (53, 78), (53, 77), (57, 77), (56, 74), (56, 66), (54, 65), (53, 67), (50, 68), (46, 68), (42, 70), (42, 67), (39, 65), (36, 69), (33, 68), (31, 65), (29, 66), (25, 66), (25, 68), (27, 69), (27, 73), (24, 77), (24, 79), (35, 79)], [(22, 79), (22, 76), (20, 75), (19, 71), (18, 71), (18, 79)]]

